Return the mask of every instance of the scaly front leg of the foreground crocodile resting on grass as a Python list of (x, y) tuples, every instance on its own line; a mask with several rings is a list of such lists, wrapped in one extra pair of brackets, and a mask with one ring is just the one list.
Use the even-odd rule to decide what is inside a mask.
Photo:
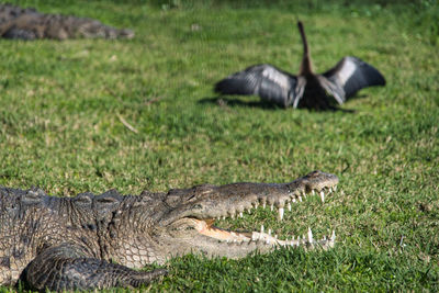
[(40, 253), (25, 269), (23, 281), (40, 291), (136, 288), (166, 273), (165, 269), (135, 271), (105, 260), (88, 258), (81, 248), (65, 244)]

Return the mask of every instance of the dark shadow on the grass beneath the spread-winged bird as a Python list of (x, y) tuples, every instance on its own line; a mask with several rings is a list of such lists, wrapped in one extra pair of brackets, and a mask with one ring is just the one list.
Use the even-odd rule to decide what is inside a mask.
[[(216, 104), (218, 106), (222, 108), (235, 108), (235, 106), (243, 106), (243, 108), (260, 108), (260, 109), (264, 109), (264, 110), (286, 110), (283, 106), (279, 106), (277, 104), (263, 101), (263, 100), (259, 100), (259, 101), (243, 101), (240, 99), (234, 99), (234, 98), (225, 98), (225, 97), (205, 97), (203, 99), (201, 99), (198, 103), (200, 104)], [(303, 108), (300, 110), (304, 110)], [(341, 109), (338, 108), (337, 105), (330, 106), (328, 109), (308, 109), (308, 111), (313, 111), (313, 112), (336, 112), (336, 111), (340, 111), (344, 113), (356, 113), (356, 110), (351, 110), (351, 109)]]

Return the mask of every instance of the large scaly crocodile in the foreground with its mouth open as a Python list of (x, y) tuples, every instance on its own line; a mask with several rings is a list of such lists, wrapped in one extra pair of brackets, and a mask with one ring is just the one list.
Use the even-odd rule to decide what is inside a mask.
[(335, 233), (315, 239), (216, 225), (228, 217), (274, 206), (279, 219), (303, 196), (336, 190), (335, 174), (313, 171), (289, 183), (202, 184), (168, 192), (50, 196), (38, 188), (0, 188), (0, 285), (38, 291), (137, 288), (167, 273), (136, 270), (172, 257), (245, 257), (282, 247), (328, 249)]

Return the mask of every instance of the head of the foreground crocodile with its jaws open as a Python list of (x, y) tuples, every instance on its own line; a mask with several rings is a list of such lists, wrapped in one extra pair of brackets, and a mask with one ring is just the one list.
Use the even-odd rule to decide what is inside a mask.
[(301, 202), (307, 194), (316, 194), (325, 201), (325, 194), (336, 190), (337, 183), (336, 176), (314, 171), (290, 183), (234, 183), (171, 190), (164, 198), (169, 212), (160, 216), (154, 235), (168, 256), (195, 252), (239, 258), (255, 250), (267, 252), (275, 247), (326, 249), (335, 244), (334, 232), (328, 238), (314, 239), (309, 229), (307, 237), (280, 240), (264, 233), (263, 226), (258, 232), (232, 232), (214, 224), (266, 206), (272, 210), (275, 206), (281, 221), (291, 204)]

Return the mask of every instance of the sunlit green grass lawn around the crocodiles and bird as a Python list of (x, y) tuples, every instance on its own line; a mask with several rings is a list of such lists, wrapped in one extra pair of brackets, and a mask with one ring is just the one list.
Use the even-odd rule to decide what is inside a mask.
[[(311, 199), (283, 223), (258, 214), (227, 225), (293, 235), (311, 226), (318, 238), (335, 229), (334, 249), (187, 256), (145, 290), (437, 292), (439, 8), (381, 2), (13, 1), (136, 36), (0, 41), (0, 184), (139, 193), (284, 182), (320, 169), (340, 178), (324, 205)], [(299, 70), (299, 18), (317, 71), (354, 55), (387, 86), (341, 106), (354, 112), (283, 110), (256, 97), (219, 102), (214, 82), (249, 65)]]

